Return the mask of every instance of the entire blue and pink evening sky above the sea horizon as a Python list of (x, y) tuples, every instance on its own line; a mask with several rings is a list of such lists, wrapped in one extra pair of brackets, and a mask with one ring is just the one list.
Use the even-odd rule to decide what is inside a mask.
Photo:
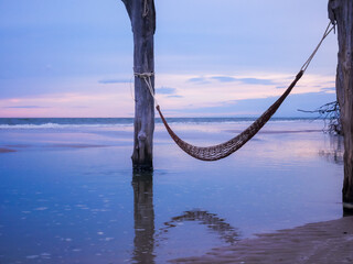
[[(167, 117), (257, 117), (328, 23), (327, 0), (154, 0), (156, 94)], [(120, 0), (0, 0), (0, 118), (133, 117)], [(336, 35), (276, 117), (335, 100)]]

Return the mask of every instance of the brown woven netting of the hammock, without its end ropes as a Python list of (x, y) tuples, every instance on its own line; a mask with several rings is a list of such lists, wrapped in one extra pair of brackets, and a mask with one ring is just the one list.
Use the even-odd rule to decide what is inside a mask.
[(201, 161), (207, 161), (207, 162), (217, 161), (239, 150), (267, 123), (267, 121), (274, 116), (274, 113), (277, 111), (280, 105), (285, 101), (285, 99), (290, 94), (290, 91), (296, 86), (296, 84), (298, 82), (298, 80), (301, 78), (302, 75), (303, 75), (303, 70), (300, 70), (296, 79), (290, 84), (290, 86), (287, 88), (284, 95), (280, 98), (278, 98), (277, 101), (274, 102), (274, 105), (270, 106), (256, 121), (254, 121), (253, 124), (250, 124), (246, 130), (244, 130), (237, 136), (218, 145), (195, 146), (181, 140), (174, 133), (174, 131), (169, 127), (165, 118), (163, 117), (160, 110), (160, 107), (157, 106), (156, 109), (158, 110), (168, 133), (174, 140), (174, 142), (180, 146), (181, 150), (183, 150), (189, 155)]

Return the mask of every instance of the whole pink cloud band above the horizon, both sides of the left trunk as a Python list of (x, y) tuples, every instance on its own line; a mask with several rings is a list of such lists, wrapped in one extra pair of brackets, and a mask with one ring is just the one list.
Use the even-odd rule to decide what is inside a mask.
[[(260, 110), (265, 109), (260, 109), (261, 102), (268, 102), (268, 107), (276, 98), (281, 96), (282, 90), (276, 89), (276, 87), (287, 87), (292, 80), (288, 80), (288, 76), (289, 74), (287, 73), (277, 72), (247, 72), (246, 75), (237, 73), (237, 76), (222, 73), (212, 75), (160, 74), (156, 79), (157, 99), (161, 107), (165, 108), (168, 111), (173, 111), (172, 114), (174, 117), (181, 117), (186, 113), (190, 117), (193, 113), (204, 117), (215, 114), (227, 116), (227, 113), (256, 116), (261, 112)], [(199, 80), (201, 81), (208, 81), (208, 84), (189, 81), (195, 77), (199, 77)], [(215, 79), (213, 77), (222, 78)], [(231, 81), (232, 79), (226, 77), (232, 77), (237, 80)], [(291, 77), (293, 78), (293, 76)], [(55, 94), (24, 94), (22, 96), (2, 99), (0, 97), (0, 109), (2, 109), (0, 111), (0, 117), (131, 117), (135, 109), (135, 102), (131, 98), (130, 86), (127, 84), (101, 85), (101, 89), (97, 90), (98, 79), (107, 80), (108, 78), (104, 76), (93, 76), (89, 79), (77, 79), (75, 82), (68, 80), (58, 84), (55, 82), (53, 89), (58, 87), (57, 90), (55, 89)], [(243, 82), (254, 82), (254, 79), (270, 80), (276, 85), (267, 86)], [(292, 95), (321, 92), (332, 99), (335, 97), (333, 90), (328, 89), (323, 91), (321, 89), (332, 88), (333, 85), (330, 81), (333, 79), (334, 76), (332, 75), (308, 74), (293, 89)], [(75, 90), (78, 86), (85, 87), (86, 89), (78, 92)], [(61, 87), (65, 87), (65, 90), (69, 89), (71, 92), (63, 92), (60, 89)], [(314, 97), (301, 97), (300, 99), (302, 102), (300, 101), (300, 105), (296, 102), (296, 106), (289, 97), (284, 105), (289, 103), (295, 106), (290, 113), (295, 113), (297, 108), (311, 109), (315, 106), (321, 106), (321, 102), (322, 105), (325, 102), (325, 100), (319, 100), (320, 95), (315, 95)], [(266, 98), (271, 99), (266, 101)], [(308, 106), (303, 106), (303, 102), (308, 102)], [(249, 106), (250, 103), (254, 103), (255, 106)], [(40, 106), (43, 109), (33, 108), (35, 106)], [(6, 107), (13, 108), (4, 109)], [(32, 107), (32, 109), (24, 107)]]

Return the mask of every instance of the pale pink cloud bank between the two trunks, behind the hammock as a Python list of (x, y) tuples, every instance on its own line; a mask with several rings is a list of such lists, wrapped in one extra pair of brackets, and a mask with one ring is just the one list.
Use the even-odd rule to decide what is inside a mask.
[[(290, 79), (288, 79), (289, 77)], [(235, 80), (232, 81), (232, 78)], [(157, 96), (160, 106), (171, 111), (170, 113), (173, 117), (184, 114), (211, 117), (227, 116), (228, 113), (257, 116), (266, 109), (260, 109), (261, 102), (264, 102), (264, 107), (265, 102), (267, 102), (267, 107), (270, 106), (282, 95), (284, 90), (279, 88), (286, 89), (293, 78), (292, 74), (278, 72), (247, 72), (246, 75), (242, 73), (237, 73), (237, 75), (160, 75), (157, 79), (157, 87), (175, 87), (175, 95), (182, 96), (182, 98), (173, 97), (175, 95)], [(292, 90), (292, 99), (286, 100), (281, 109), (285, 109), (287, 103), (296, 105), (290, 111), (285, 111), (289, 117), (290, 114), (297, 114), (297, 105), (298, 108), (301, 107), (302, 109), (310, 109), (310, 106), (318, 106), (321, 102), (323, 105), (324, 97), (330, 99), (334, 97), (334, 95), (331, 95), (334, 91), (321, 90), (323, 87), (332, 87), (330, 81), (333, 78), (332, 75), (307, 74)], [(202, 84), (202, 81), (208, 81), (208, 84)], [(310, 92), (314, 92), (315, 96), (310, 96)], [(297, 98), (296, 95), (308, 94), (309, 96), (300, 97), (301, 100), (308, 101), (308, 106), (303, 106), (304, 102), (301, 101), (293, 101), (293, 98)], [(250, 102), (259, 103), (259, 106), (252, 107), (248, 105)], [(284, 114), (284, 111), (281, 111), (281, 114)]]

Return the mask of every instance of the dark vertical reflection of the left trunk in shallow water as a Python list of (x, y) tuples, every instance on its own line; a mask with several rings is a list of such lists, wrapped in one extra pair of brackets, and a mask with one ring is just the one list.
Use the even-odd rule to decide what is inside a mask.
[(154, 263), (154, 209), (152, 174), (133, 175), (133, 261), (137, 263)]

